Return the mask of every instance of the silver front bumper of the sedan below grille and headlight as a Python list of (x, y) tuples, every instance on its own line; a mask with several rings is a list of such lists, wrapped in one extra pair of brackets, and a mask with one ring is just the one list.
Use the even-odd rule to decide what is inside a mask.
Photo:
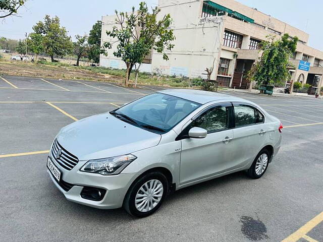
[[(65, 191), (47, 169), (51, 180), (64, 194), (66, 199), (75, 203), (99, 209), (115, 209), (122, 207), (124, 197), (129, 187), (139, 175), (138, 173), (125, 173), (103, 176), (100, 174), (79, 171), (86, 161), (80, 161), (72, 170), (66, 170), (57, 162), (53, 162), (62, 171), (62, 179), (66, 183), (74, 185), (69, 191)], [(100, 201), (84, 199), (81, 197), (81, 192), (84, 187), (103, 188), (106, 190), (106, 193), (103, 199)]]

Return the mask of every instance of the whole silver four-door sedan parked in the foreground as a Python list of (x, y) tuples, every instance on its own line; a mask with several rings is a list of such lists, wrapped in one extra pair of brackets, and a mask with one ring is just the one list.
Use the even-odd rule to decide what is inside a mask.
[(240, 170), (260, 178), (282, 128), (241, 98), (164, 90), (63, 128), (47, 172), (69, 201), (144, 217), (172, 190)]

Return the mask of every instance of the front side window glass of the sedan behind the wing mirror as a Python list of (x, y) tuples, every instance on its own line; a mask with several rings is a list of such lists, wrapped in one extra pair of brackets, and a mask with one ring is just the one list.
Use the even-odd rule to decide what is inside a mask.
[(202, 113), (190, 127), (207, 130), (207, 133), (226, 130), (229, 127), (228, 107), (216, 106)]

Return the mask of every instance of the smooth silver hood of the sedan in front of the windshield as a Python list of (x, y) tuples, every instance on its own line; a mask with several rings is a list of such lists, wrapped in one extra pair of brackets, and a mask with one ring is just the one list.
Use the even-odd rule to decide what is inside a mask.
[(110, 113), (102, 113), (64, 127), (56, 138), (79, 160), (90, 160), (156, 146), (161, 135), (123, 122)]

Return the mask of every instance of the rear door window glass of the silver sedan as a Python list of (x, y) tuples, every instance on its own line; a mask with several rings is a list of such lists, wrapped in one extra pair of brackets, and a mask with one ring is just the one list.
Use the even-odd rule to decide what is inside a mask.
[(237, 105), (234, 107), (235, 118), (236, 118), (236, 128), (254, 125), (255, 115), (254, 109), (250, 106)]

